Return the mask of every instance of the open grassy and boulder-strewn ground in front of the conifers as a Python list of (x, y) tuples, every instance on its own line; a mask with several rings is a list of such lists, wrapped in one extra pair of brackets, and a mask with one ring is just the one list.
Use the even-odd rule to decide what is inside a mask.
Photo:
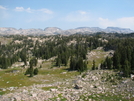
[[(134, 81), (122, 78), (113, 70), (90, 70), (109, 55), (102, 48), (88, 53), (89, 70), (79, 74), (68, 67), (53, 66), (53, 59), (40, 60), (39, 74), (29, 78), (26, 69), (0, 70), (1, 101), (128, 101), (134, 97)], [(16, 71), (15, 71), (16, 70)], [(7, 78), (7, 76), (9, 78)], [(5, 93), (5, 94), (4, 94)]]

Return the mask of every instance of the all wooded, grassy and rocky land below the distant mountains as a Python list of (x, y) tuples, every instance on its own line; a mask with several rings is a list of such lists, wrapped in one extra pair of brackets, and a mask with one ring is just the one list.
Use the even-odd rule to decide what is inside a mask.
[(119, 37), (1, 36), (0, 101), (133, 101), (134, 39)]

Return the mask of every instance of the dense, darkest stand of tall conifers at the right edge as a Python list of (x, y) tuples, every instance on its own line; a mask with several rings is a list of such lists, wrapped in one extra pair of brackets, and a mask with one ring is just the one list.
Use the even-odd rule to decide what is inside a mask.
[(106, 58), (101, 69), (116, 69), (125, 77), (134, 74), (134, 39), (110, 40), (106, 49), (115, 49), (115, 53), (112, 58)]

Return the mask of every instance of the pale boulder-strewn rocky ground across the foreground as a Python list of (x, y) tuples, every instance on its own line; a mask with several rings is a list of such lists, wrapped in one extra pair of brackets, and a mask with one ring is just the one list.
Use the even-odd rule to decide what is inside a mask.
[[(121, 95), (124, 99), (129, 100), (134, 97), (133, 84), (134, 81), (131, 79), (118, 80), (113, 71), (93, 70), (78, 75), (74, 80), (70, 79), (53, 84), (37, 84), (30, 87), (24, 86), (15, 92), (0, 96), (0, 101), (61, 101), (63, 99), (65, 101), (83, 101), (86, 99), (92, 101), (92, 98), (102, 100), (101, 95), (116, 97)], [(43, 87), (50, 89), (43, 90)]]

